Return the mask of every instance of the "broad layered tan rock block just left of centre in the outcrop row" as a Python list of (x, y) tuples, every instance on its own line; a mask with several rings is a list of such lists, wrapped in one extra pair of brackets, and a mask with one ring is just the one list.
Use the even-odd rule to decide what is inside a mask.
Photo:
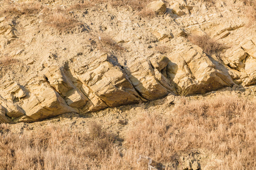
[(76, 74), (85, 84), (82, 88), (86, 88), (86, 96), (92, 102), (96, 100), (93, 102), (97, 104), (95, 107), (116, 107), (142, 101), (121, 67), (108, 61), (108, 54), (100, 56), (87, 68), (81, 67)]

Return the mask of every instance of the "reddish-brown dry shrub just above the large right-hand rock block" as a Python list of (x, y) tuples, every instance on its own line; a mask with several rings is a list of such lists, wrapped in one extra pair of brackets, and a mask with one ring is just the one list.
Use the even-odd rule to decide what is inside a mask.
[(223, 44), (216, 42), (208, 35), (191, 35), (188, 36), (188, 40), (191, 41), (193, 44), (200, 46), (204, 50), (204, 52), (208, 54), (221, 52), (221, 50), (225, 49), (225, 46)]

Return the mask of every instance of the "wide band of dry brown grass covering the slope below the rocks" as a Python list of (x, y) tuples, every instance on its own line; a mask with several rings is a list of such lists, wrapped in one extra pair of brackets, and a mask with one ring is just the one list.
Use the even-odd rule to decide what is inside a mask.
[(143, 112), (130, 121), (124, 138), (89, 125), (89, 134), (67, 127), (0, 127), (1, 169), (146, 169), (139, 155), (180, 164), (180, 156), (208, 150), (223, 160), (214, 169), (256, 166), (256, 102), (218, 96), (207, 101), (181, 97), (172, 114)]

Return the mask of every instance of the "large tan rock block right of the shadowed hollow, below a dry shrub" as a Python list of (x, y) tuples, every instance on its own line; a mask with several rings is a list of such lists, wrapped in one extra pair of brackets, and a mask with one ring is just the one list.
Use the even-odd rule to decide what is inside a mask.
[[(180, 47), (181, 48), (181, 47)], [(167, 76), (176, 84), (183, 95), (201, 94), (234, 82), (228, 70), (196, 46), (183, 46), (182, 52), (168, 56)]]

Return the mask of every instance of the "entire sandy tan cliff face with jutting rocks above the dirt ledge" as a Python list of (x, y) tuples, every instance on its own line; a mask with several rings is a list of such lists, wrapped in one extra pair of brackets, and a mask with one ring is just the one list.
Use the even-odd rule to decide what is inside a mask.
[(253, 1), (0, 4), (0, 121), (256, 84)]

